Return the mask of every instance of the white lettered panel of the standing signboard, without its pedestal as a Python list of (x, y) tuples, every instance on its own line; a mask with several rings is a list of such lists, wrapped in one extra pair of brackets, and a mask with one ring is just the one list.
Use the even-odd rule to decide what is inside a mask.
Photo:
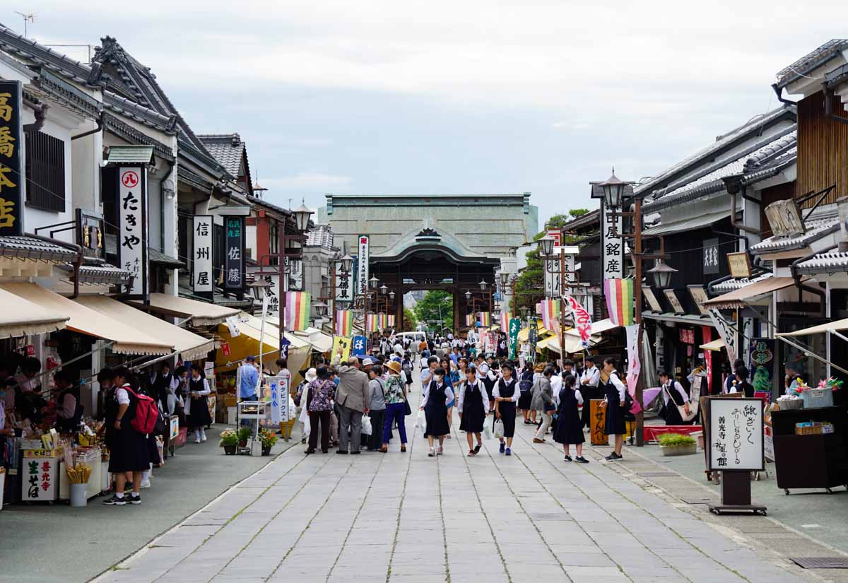
[(762, 399), (710, 400), (711, 471), (762, 471)]

